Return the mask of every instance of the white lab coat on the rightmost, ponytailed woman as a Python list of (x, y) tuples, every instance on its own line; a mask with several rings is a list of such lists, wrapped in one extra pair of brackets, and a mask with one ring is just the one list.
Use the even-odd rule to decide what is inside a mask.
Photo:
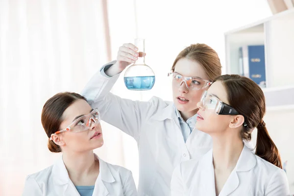
[[(182, 162), (172, 175), (172, 196), (216, 196), (212, 149)], [(286, 173), (244, 146), (219, 196), (288, 196)]]

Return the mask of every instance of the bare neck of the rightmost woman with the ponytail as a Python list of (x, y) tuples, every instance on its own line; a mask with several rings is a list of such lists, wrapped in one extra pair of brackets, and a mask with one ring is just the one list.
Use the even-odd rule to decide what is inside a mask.
[[(236, 133), (238, 131), (235, 131)], [(238, 134), (221, 132), (212, 136), (213, 165), (215, 170), (233, 170), (236, 167), (244, 144)]]

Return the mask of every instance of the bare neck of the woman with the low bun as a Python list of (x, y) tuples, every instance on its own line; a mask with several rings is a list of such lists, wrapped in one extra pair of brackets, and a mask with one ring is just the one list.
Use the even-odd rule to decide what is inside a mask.
[(62, 158), (69, 176), (76, 178), (91, 173), (97, 165), (93, 150), (87, 152), (63, 152)]

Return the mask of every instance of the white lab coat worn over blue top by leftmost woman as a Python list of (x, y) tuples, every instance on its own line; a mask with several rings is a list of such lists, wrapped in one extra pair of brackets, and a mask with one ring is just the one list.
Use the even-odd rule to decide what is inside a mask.
[[(99, 159), (99, 174), (93, 196), (137, 196), (131, 171)], [(23, 196), (80, 196), (60, 157), (41, 172), (26, 177)]]

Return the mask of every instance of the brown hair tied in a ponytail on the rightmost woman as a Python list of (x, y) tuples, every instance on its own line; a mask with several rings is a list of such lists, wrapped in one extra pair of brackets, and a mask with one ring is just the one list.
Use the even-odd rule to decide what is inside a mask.
[(221, 75), (215, 81), (222, 82), (228, 95), (228, 104), (245, 118), (247, 126), (243, 127), (241, 138), (250, 141), (251, 133), (254, 127), (257, 127), (255, 154), (282, 168), (278, 148), (271, 140), (263, 121), (266, 113), (266, 100), (261, 88), (253, 80), (236, 74)]

